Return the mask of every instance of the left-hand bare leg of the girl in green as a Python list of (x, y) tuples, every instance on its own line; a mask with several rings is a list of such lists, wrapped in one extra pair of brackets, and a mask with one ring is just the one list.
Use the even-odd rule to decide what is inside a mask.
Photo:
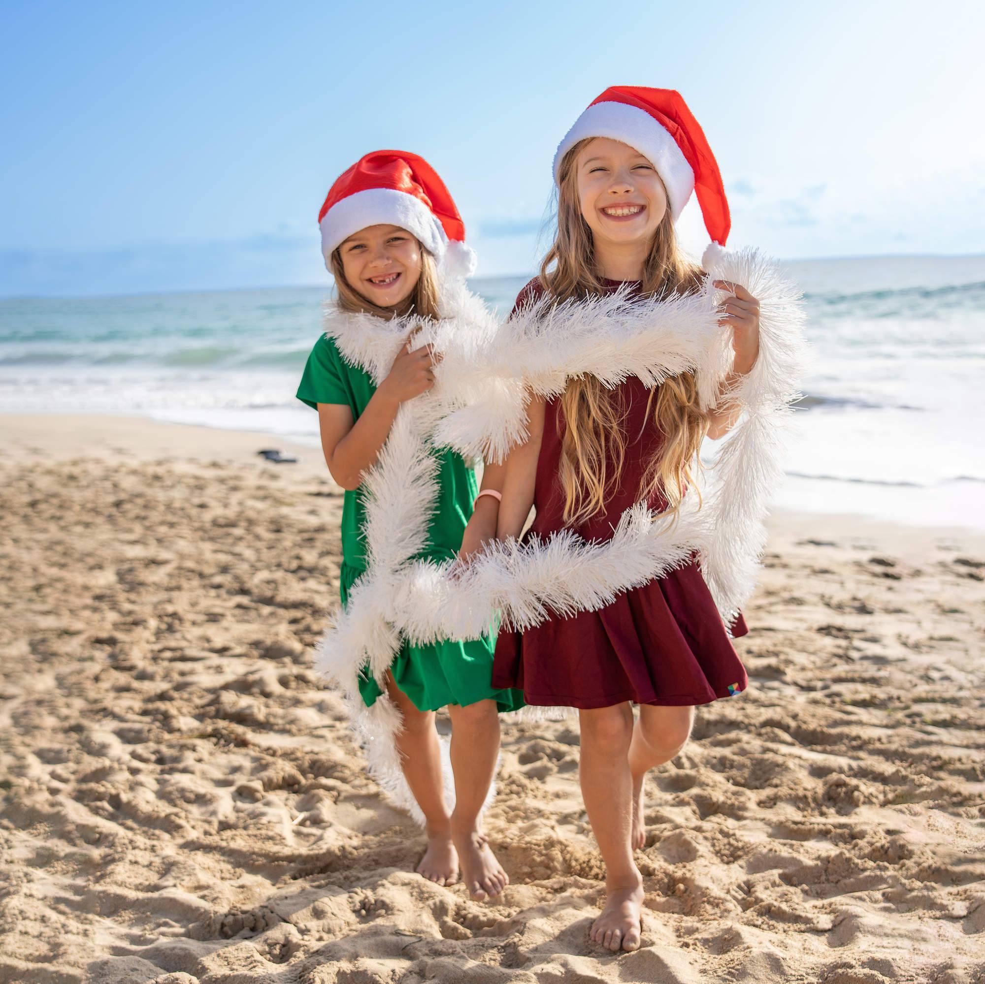
[(404, 718), (404, 726), (397, 735), (397, 751), (407, 784), (425, 815), (427, 851), (418, 871), (438, 885), (452, 885), (458, 878), (458, 854), (451, 839), (451, 818), (444, 803), (441, 750), (434, 727), (434, 711), (414, 707), (389, 672), (386, 674), (386, 691)]

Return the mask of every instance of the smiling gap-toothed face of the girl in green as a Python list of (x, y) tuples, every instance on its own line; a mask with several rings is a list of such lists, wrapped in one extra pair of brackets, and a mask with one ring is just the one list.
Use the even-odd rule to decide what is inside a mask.
[(350, 286), (377, 307), (407, 300), (421, 278), (421, 244), (399, 225), (367, 225), (339, 247)]

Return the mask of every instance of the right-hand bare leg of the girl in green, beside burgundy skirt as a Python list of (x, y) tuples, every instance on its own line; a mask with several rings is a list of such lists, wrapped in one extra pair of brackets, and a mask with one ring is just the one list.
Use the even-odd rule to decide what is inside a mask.
[(477, 701), (468, 707), (449, 705), (448, 713), (451, 769), (455, 773), (451, 835), (458, 848), (462, 881), (473, 898), (483, 901), (498, 895), (509, 883), (480, 825), (499, 754), (499, 715), (493, 700)]

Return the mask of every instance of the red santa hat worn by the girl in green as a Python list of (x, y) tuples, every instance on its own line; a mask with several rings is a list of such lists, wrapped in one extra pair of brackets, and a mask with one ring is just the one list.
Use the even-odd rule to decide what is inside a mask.
[(468, 277), (476, 254), (465, 245), (465, 224), (444, 182), (424, 157), (373, 151), (344, 171), (318, 213), (321, 252), (332, 251), (367, 225), (407, 229), (437, 261), (440, 273)]

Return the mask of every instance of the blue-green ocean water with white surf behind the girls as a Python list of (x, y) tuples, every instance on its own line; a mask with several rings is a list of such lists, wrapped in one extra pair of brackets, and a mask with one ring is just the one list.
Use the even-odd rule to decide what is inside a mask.
[[(784, 508), (985, 528), (985, 257), (794, 262), (810, 370)], [(477, 279), (500, 311), (525, 277)], [(0, 300), (0, 412), (107, 412), (316, 444), (294, 399), (329, 287)], [(2, 426), (2, 422), (0, 422)]]

